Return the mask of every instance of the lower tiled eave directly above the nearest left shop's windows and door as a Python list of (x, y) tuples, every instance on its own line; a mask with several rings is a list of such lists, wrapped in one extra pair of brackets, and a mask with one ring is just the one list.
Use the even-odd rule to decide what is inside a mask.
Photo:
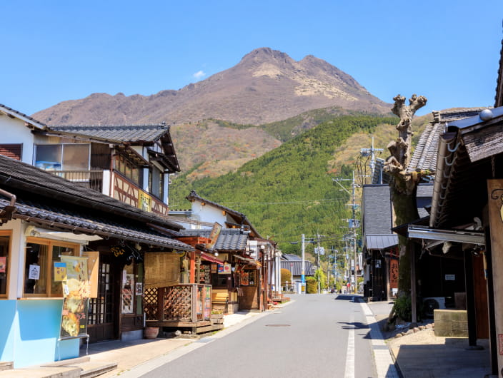
[[(41, 225), (61, 228), (101, 237), (116, 237), (150, 245), (171, 247), (176, 250), (193, 250), (184, 242), (171, 239), (148, 228), (144, 223), (114, 216), (106, 216), (91, 209), (79, 208), (52, 200), (24, 199), (19, 193), (13, 218), (29, 220)], [(25, 194), (26, 195), (26, 194)], [(9, 205), (9, 200), (0, 198), (0, 208)]]

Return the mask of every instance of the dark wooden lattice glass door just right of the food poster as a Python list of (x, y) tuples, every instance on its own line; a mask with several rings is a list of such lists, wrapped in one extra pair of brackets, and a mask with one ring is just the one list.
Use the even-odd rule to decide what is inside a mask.
[(116, 338), (114, 303), (115, 274), (111, 255), (99, 256), (98, 297), (89, 300), (87, 333), (89, 342), (100, 342)]

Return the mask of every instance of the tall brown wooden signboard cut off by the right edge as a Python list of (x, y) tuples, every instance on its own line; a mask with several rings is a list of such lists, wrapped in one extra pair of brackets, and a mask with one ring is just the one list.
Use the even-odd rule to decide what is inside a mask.
[[(503, 290), (503, 180), (487, 180), (487, 197), (489, 200), (489, 227), (491, 229), (491, 261), (494, 293)], [(502, 314), (503, 296), (494, 295), (494, 312)], [(497, 339), (498, 369), (503, 367), (503, 317), (495, 319)]]

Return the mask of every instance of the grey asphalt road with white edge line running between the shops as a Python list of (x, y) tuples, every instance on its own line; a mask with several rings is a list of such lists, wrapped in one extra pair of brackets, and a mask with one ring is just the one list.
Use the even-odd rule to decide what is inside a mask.
[(351, 295), (292, 300), (142, 377), (377, 377), (369, 328)]

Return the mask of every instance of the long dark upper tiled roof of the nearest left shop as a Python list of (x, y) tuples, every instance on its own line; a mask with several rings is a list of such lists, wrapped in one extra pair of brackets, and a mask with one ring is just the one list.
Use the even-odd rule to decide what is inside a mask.
[(183, 228), (178, 223), (161, 218), (159, 215), (126, 205), (108, 195), (75, 185), (69, 180), (59, 178), (33, 165), (3, 155), (0, 155), (0, 187), (8, 191), (13, 189), (24, 190), (25, 192), (59, 200), (61, 203), (106, 211), (121, 217), (155, 223), (172, 230)]

